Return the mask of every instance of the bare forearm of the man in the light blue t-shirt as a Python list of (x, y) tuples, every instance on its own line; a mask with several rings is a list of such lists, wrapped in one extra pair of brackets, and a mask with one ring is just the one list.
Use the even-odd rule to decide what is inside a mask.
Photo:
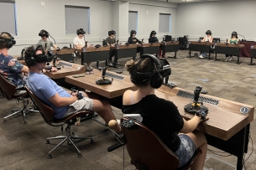
[(76, 96), (60, 97), (60, 95), (56, 93), (54, 96), (50, 97), (49, 100), (55, 106), (62, 107), (62, 106), (70, 106), (72, 103), (74, 103), (77, 100), (77, 97)]

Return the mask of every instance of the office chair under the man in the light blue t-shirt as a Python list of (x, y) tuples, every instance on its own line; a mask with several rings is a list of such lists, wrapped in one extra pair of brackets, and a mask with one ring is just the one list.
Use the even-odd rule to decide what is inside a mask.
[[(81, 151), (79, 150), (79, 148), (76, 146), (76, 143), (74, 142), (74, 140), (79, 140), (79, 142), (84, 141), (86, 139), (90, 139), (92, 142), (92, 137), (97, 136), (98, 134), (100, 134), (103, 131), (107, 131), (108, 128), (105, 126), (105, 124), (103, 124), (101, 121), (97, 121), (97, 115), (95, 115), (95, 113), (93, 111), (76, 111), (75, 114), (71, 115), (71, 116), (67, 116), (65, 118), (62, 119), (56, 119), (54, 117), (55, 112), (53, 111), (53, 109), (48, 106), (46, 103), (44, 103), (43, 100), (40, 100), (37, 96), (34, 95), (34, 93), (29, 90), (29, 88), (26, 86), (25, 87), (28, 90), (28, 93), (31, 97), (31, 99), (34, 102), (34, 105), (37, 106), (39, 108), (39, 112), (41, 113), (41, 116), (43, 116), (44, 121), (50, 125), (50, 126), (61, 126), (61, 130), (63, 128), (63, 126), (66, 124), (65, 127), (65, 132), (66, 135), (65, 136), (58, 136), (58, 137), (49, 137), (47, 138), (46, 144), (50, 144), (50, 140), (52, 139), (62, 139), (62, 141), (57, 144), (52, 150), (50, 150), (50, 152), (48, 152), (48, 158), (51, 158), (51, 152), (55, 151), (55, 149), (57, 147), (60, 147), (60, 145), (62, 145), (65, 141), (68, 142), (68, 145), (73, 145), (76, 148), (76, 151), (78, 152), (78, 157), (82, 157), (81, 155)], [(76, 122), (76, 118), (77, 117), (81, 117), (81, 121), (86, 121), (88, 119), (91, 119), (93, 121), (97, 121), (99, 124), (101, 124), (102, 126), (105, 126), (106, 128), (104, 128), (101, 131), (97, 131), (94, 134), (87, 136), (87, 137), (82, 137), (82, 136), (76, 136), (72, 131), (71, 131), (71, 125), (74, 125)]]

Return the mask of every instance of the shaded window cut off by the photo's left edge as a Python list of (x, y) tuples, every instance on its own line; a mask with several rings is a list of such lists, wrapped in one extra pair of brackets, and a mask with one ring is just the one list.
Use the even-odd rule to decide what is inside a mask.
[(16, 35), (16, 14), (14, 2), (1, 2), (0, 1), (0, 32), (8, 32)]

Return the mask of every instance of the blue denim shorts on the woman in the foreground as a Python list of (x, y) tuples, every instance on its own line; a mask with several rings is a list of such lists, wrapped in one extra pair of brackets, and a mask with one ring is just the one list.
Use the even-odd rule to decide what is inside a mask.
[(180, 148), (175, 152), (175, 155), (179, 158), (179, 167), (182, 167), (194, 155), (196, 145), (192, 141), (191, 137), (185, 134), (179, 134), (178, 137), (180, 137)]

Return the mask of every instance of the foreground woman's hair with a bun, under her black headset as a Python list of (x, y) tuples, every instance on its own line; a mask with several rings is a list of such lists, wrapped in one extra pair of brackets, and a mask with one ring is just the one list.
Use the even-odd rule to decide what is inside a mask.
[[(133, 71), (135, 69), (134, 68), (135, 64), (137, 64), (141, 60), (142, 59), (138, 59), (136, 62), (133, 59), (128, 60), (128, 62), (125, 64), (126, 70), (128, 70), (128, 72)], [(138, 68), (137, 68), (137, 71), (140, 73), (153, 72), (153, 70), (157, 70), (157, 68), (156, 68), (156, 65), (154, 64), (154, 62), (149, 58), (143, 59), (143, 61), (138, 65)], [(144, 80), (145, 79), (145, 77), (136, 77), (133, 75), (130, 75), (130, 76), (133, 78), (133, 80)], [(136, 84), (135, 85), (138, 87), (146, 86), (149, 84), (149, 81), (145, 82), (145, 84), (143, 84), (143, 85), (136, 85)]]

